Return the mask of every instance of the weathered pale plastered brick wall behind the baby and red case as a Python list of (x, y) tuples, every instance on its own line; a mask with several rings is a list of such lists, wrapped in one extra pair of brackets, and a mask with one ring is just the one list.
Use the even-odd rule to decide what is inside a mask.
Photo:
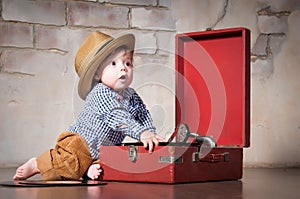
[(0, 0), (0, 167), (53, 147), (73, 124), (74, 57), (95, 30), (136, 36), (135, 79), (158, 131), (174, 127), (176, 33), (251, 30), (251, 147), (245, 166), (299, 166), (300, 1)]

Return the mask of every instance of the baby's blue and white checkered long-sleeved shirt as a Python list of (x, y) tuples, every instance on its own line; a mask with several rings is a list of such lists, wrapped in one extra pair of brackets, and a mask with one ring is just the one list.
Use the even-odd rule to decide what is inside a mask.
[(155, 127), (136, 91), (126, 88), (118, 94), (101, 83), (89, 93), (77, 122), (69, 128), (86, 140), (94, 160), (99, 159), (100, 145), (119, 144), (125, 136), (139, 140), (145, 130), (155, 132)]

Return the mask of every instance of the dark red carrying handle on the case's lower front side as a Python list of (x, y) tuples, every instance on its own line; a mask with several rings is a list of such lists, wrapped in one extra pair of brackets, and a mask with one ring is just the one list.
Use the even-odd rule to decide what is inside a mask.
[(199, 152), (193, 153), (193, 162), (210, 162), (210, 163), (216, 163), (216, 162), (229, 162), (230, 155), (228, 152), (221, 153), (221, 154), (208, 154), (205, 157), (201, 157), (201, 154)]

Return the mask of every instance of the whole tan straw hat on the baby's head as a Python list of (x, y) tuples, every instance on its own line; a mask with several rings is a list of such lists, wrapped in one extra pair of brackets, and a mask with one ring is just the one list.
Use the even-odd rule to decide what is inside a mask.
[(102, 32), (93, 32), (79, 47), (75, 58), (75, 70), (79, 76), (78, 94), (85, 100), (92, 90), (92, 82), (98, 66), (115, 49), (127, 46), (134, 50), (135, 38), (133, 34), (126, 34), (113, 38)]

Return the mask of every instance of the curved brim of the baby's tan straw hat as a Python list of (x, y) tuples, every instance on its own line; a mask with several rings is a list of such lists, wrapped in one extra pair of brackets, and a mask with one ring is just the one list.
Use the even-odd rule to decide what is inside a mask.
[(95, 56), (88, 63), (87, 70), (83, 71), (78, 82), (78, 94), (85, 100), (92, 90), (94, 75), (100, 65), (114, 50), (120, 46), (127, 46), (129, 50), (134, 50), (135, 37), (133, 34), (122, 35), (113, 39), (106, 46), (97, 51)]

